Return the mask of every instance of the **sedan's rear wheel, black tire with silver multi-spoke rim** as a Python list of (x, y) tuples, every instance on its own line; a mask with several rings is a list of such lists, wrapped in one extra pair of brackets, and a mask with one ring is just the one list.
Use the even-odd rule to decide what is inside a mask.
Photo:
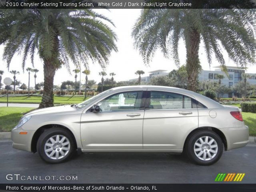
[(213, 131), (200, 130), (188, 138), (185, 145), (187, 156), (198, 165), (212, 165), (223, 153), (221, 138)]

